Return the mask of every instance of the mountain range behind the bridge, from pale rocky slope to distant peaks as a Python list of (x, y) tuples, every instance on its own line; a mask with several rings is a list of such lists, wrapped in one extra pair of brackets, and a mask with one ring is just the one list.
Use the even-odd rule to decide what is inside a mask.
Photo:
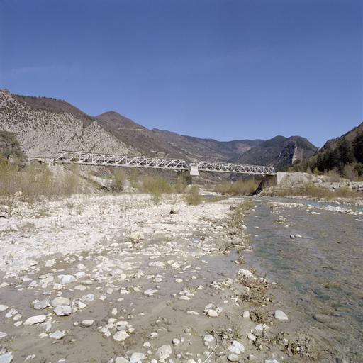
[(29, 156), (84, 150), (280, 168), (311, 157), (318, 150), (300, 136), (220, 142), (149, 130), (114, 111), (93, 117), (65, 101), (19, 96), (7, 89), (0, 89), (0, 130), (18, 133)]

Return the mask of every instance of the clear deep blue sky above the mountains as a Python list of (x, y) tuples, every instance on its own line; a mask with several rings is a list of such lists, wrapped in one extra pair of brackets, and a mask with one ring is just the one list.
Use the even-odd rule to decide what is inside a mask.
[(362, 123), (361, 0), (0, 0), (0, 88), (220, 141)]

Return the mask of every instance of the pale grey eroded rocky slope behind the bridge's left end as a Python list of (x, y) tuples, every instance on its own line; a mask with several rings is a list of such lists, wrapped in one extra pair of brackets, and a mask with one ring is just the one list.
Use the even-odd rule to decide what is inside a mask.
[(0, 130), (17, 133), (28, 156), (54, 156), (61, 150), (138, 155), (96, 121), (84, 127), (71, 113), (31, 108), (16, 101), (7, 89), (0, 89)]

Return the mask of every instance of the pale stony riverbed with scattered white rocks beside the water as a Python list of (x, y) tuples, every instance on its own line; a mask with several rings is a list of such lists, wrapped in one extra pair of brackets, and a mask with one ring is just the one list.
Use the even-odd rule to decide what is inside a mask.
[(0, 362), (333, 362), (240, 264), (240, 202), (3, 206)]

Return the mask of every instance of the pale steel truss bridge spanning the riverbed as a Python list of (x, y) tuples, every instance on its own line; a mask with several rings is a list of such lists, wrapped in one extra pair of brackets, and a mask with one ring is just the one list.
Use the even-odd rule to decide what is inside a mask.
[[(169, 169), (178, 172), (224, 172), (233, 174), (276, 175), (274, 167), (257, 165), (229, 164), (223, 162), (191, 162), (185, 160), (163, 159), (128, 155), (99, 154), (84, 151), (62, 151), (53, 160), (56, 163), (84, 164), (111, 167), (147, 167)], [(197, 175), (197, 174), (191, 174)]]

